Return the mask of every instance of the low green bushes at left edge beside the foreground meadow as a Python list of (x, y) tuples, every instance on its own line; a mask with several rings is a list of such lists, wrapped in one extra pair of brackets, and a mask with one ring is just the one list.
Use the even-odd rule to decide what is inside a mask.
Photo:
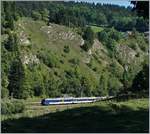
[(1, 103), (2, 114), (16, 114), (25, 110), (25, 104), (20, 100), (7, 100)]

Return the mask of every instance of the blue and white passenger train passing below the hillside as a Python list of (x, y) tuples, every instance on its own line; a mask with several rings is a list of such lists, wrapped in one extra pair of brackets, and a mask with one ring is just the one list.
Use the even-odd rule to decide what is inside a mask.
[(77, 104), (77, 103), (90, 103), (98, 100), (104, 100), (107, 97), (80, 97), (80, 98), (46, 98), (42, 99), (42, 105), (59, 105), (59, 104)]

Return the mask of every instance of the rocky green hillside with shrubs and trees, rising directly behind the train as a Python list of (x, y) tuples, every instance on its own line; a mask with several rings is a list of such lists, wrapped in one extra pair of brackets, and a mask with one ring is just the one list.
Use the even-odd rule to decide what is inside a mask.
[[(147, 55), (148, 46), (144, 50), (140, 48), (139, 38), (143, 45), (147, 45), (142, 34), (134, 38), (120, 33), (122, 38), (117, 41), (115, 57), (112, 57), (110, 49), (96, 36), (92, 47), (84, 51), (85, 41), (75, 28), (54, 23), (47, 26), (43, 21), (31, 18), (18, 20), (15, 27), (19, 57), (25, 72), (25, 88), (28, 90), (25, 98), (63, 94), (95, 96), (108, 95), (109, 92), (114, 95), (123, 88), (124, 64), (132, 71), (128, 74), (131, 85)], [(53, 87), (46, 87), (49, 82)], [(103, 82), (106, 84), (101, 87)]]

